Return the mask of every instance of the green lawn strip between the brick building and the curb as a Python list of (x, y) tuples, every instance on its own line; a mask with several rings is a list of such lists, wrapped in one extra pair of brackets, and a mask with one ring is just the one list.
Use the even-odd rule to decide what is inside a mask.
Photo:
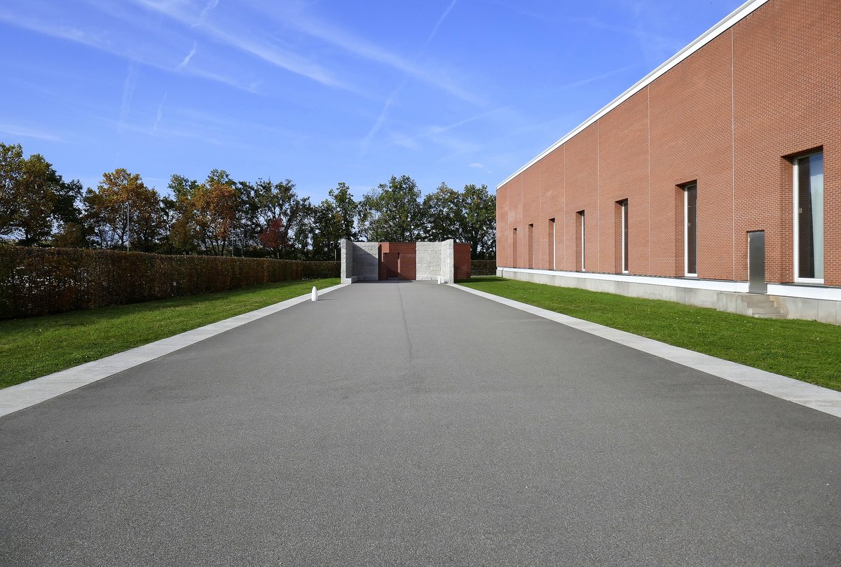
[(500, 277), (458, 283), (841, 391), (841, 326), (838, 325), (799, 319), (759, 319), (682, 303)]

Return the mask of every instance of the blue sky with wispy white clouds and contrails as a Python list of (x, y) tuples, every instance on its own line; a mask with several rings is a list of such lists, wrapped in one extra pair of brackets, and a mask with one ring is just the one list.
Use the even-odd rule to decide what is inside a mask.
[(124, 167), (494, 189), (740, 0), (3, 0), (0, 141)]

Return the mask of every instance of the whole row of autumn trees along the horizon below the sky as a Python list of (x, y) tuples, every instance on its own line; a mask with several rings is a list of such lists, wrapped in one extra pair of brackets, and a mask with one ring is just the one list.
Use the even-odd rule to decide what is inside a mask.
[(21, 246), (129, 249), (159, 254), (334, 260), (341, 239), (455, 239), (474, 259), (494, 258), (496, 197), (487, 186), (443, 183), (422, 197), (410, 176), (391, 176), (354, 199), (339, 183), (320, 203), (290, 180), (204, 181), (172, 175), (161, 196), (118, 168), (96, 187), (65, 181), (40, 154), (0, 143), (0, 239)]

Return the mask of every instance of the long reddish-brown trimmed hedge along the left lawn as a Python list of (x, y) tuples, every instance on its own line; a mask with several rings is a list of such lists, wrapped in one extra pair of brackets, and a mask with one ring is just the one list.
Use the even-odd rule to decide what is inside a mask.
[[(336, 277), (338, 262), (0, 246), (0, 319)], [(335, 269), (329, 264), (334, 264)], [(335, 273), (334, 273), (335, 272)]]

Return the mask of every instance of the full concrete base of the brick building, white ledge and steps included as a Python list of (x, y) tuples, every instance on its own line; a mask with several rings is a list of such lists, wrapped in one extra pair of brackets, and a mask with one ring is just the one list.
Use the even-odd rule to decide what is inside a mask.
[[(578, 287), (590, 291), (604, 291), (628, 297), (661, 299), (751, 317), (807, 319), (821, 323), (841, 324), (841, 290), (820, 288), (824, 296), (838, 295), (839, 299), (796, 297), (795, 295), (757, 295), (748, 293), (743, 281), (705, 281), (648, 276), (615, 276), (555, 270), (526, 270), (497, 268), (496, 275), (510, 280), (532, 281), (549, 286)], [(774, 285), (774, 291), (791, 290), (803, 295), (805, 286)]]

